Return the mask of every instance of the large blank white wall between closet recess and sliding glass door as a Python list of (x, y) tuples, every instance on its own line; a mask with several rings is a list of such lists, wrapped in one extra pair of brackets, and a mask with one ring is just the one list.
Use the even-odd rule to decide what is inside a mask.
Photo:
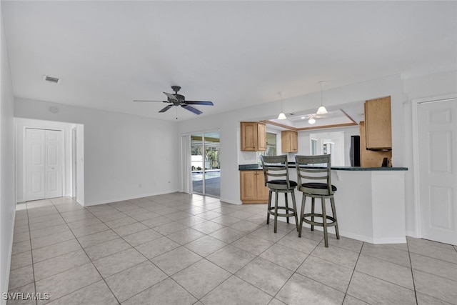
[(29, 99), (16, 99), (14, 114), (84, 124), (86, 206), (179, 190), (174, 122)]

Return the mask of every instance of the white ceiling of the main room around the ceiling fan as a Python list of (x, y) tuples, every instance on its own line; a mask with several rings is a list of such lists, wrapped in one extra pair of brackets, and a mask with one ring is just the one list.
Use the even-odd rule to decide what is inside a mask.
[[(1, 1), (14, 95), (174, 120), (457, 69), (456, 1)], [(43, 75), (62, 79), (60, 85)], [(180, 120), (195, 114), (179, 108)]]

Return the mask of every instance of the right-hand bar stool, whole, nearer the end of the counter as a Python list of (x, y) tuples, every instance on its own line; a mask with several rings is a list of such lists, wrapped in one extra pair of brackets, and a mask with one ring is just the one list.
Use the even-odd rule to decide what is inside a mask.
[[(327, 227), (335, 226), (336, 239), (340, 239), (338, 231), (338, 221), (336, 219), (335, 199), (333, 199), (333, 192), (336, 191), (336, 186), (331, 184), (331, 164), (330, 154), (320, 156), (295, 156), (298, 191), (303, 193), (301, 200), (300, 212), (300, 228), (298, 229), (298, 237), (301, 237), (301, 229), (303, 221), (306, 224), (311, 224), (311, 231), (314, 231), (314, 226), (323, 227), (323, 239), (325, 246), (328, 247)], [(325, 182), (306, 182), (311, 181), (325, 181)], [(305, 214), (306, 197), (311, 197), (311, 213)], [(314, 200), (321, 199), (322, 213), (314, 211)], [(326, 214), (326, 201), (330, 199), (331, 211), (333, 216)], [(315, 218), (320, 218), (322, 221), (316, 221)]]

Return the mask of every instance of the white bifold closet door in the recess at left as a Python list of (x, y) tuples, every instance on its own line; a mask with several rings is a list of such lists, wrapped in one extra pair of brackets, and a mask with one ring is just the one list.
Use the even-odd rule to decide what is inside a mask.
[(62, 196), (62, 131), (26, 129), (26, 200)]

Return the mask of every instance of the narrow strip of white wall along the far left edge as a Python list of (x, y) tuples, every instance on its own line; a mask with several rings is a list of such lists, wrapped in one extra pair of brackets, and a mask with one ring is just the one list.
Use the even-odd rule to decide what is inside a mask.
[[(0, 1), (0, 293), (8, 291), (14, 198), (14, 97)], [(0, 298), (0, 304), (6, 304)]]

